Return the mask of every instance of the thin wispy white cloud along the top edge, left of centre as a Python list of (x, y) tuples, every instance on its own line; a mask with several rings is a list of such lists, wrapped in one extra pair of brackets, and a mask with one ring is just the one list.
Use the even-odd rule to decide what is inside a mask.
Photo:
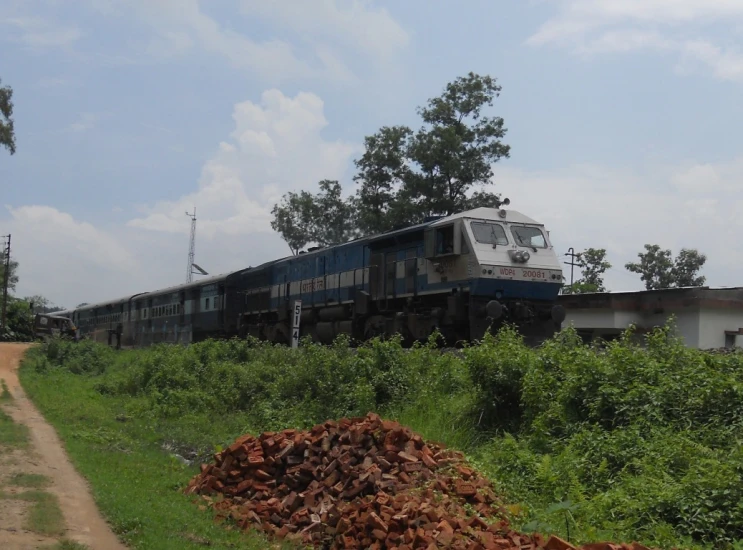
[(243, 21), (222, 24), (204, 13), (198, 0), (93, 1), (104, 14), (134, 13), (151, 28), (155, 36), (146, 47), (150, 59), (202, 50), (226, 59), (235, 68), (270, 78), (273, 83), (285, 78), (355, 81), (341, 59), (345, 49), (350, 47), (384, 66), (408, 41), (405, 30), (386, 10), (374, 9), (365, 1), (244, 1), (239, 5), (247, 16), (243, 21), (261, 19), (279, 34), (288, 29), (292, 40), (256, 39), (239, 30)]

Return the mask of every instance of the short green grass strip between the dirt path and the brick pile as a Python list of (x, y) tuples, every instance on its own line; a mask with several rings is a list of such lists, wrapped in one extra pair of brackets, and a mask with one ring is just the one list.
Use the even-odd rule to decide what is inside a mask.
[(210, 548), (271, 547), (260, 535), (215, 524), (211, 511), (200, 510), (181, 493), (197, 465), (184, 466), (161, 448), (173, 436), (187, 434), (197, 445), (212, 437), (226, 440), (229, 427), (215, 434), (214, 422), (206, 417), (160, 424), (137, 413), (136, 399), (101, 395), (94, 380), (62, 371), (41, 375), (29, 366), (24, 363), (20, 372), (25, 391), (64, 440), (99, 509), (125, 544), (186, 550), (204, 548), (206, 540)]

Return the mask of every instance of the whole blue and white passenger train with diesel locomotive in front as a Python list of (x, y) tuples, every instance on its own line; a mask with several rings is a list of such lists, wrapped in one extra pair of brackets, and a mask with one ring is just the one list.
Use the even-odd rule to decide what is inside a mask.
[(55, 315), (118, 348), (247, 336), (415, 342), (435, 330), (454, 343), (504, 323), (538, 343), (565, 319), (563, 284), (544, 224), (502, 204)]

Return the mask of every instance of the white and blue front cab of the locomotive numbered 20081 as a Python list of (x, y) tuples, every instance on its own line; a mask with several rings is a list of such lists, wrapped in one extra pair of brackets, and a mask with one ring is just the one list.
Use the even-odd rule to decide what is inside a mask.
[(477, 208), (432, 224), (425, 246), (428, 283), (456, 285), (459, 300), (468, 295), (470, 337), (504, 323), (537, 339), (559, 329), (562, 268), (543, 224), (514, 210)]

